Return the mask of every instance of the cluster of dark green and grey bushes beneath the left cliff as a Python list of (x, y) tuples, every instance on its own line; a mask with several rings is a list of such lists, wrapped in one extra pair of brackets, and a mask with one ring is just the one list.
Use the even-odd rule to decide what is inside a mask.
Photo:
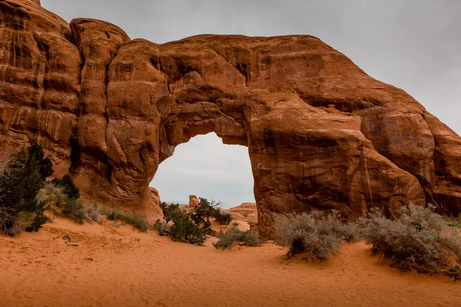
[(85, 206), (80, 192), (66, 174), (47, 181), (53, 174), (51, 160), (39, 145), (0, 157), (0, 232), (16, 235), (38, 231), (48, 221), (45, 210), (72, 218), (76, 223), (97, 221), (96, 205)]

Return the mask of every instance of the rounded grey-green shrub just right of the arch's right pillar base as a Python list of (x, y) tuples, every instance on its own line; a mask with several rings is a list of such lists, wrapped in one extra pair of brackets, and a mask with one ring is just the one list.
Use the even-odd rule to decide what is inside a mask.
[(337, 216), (324, 215), (317, 210), (279, 215), (274, 228), (280, 237), (279, 244), (289, 247), (288, 257), (307, 252), (323, 260), (340, 248), (341, 239), (360, 237), (353, 223), (343, 224)]

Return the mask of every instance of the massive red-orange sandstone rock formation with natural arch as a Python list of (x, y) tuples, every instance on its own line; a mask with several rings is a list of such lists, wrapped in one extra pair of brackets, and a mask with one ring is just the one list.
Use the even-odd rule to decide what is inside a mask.
[(87, 199), (158, 212), (158, 164), (214, 131), (248, 147), (263, 238), (291, 210), (461, 212), (461, 138), (316, 37), (158, 45), (31, 0), (0, 0), (0, 23), (0, 148), (40, 144)]

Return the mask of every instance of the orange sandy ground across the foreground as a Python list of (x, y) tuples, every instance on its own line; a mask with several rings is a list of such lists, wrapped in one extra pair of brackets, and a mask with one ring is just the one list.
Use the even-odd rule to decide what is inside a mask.
[(287, 262), (285, 252), (272, 243), (220, 251), (56, 219), (36, 233), (0, 236), (0, 305), (461, 305), (461, 282), (381, 265), (363, 242), (322, 263)]

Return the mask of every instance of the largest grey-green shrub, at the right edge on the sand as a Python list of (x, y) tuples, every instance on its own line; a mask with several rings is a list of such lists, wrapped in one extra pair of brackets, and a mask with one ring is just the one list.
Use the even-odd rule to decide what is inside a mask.
[(395, 221), (377, 209), (359, 220), (365, 239), (373, 244), (373, 253), (389, 258), (393, 267), (414, 272), (442, 272), (452, 265), (450, 258), (461, 257), (459, 232), (436, 214), (432, 205), (402, 210)]

